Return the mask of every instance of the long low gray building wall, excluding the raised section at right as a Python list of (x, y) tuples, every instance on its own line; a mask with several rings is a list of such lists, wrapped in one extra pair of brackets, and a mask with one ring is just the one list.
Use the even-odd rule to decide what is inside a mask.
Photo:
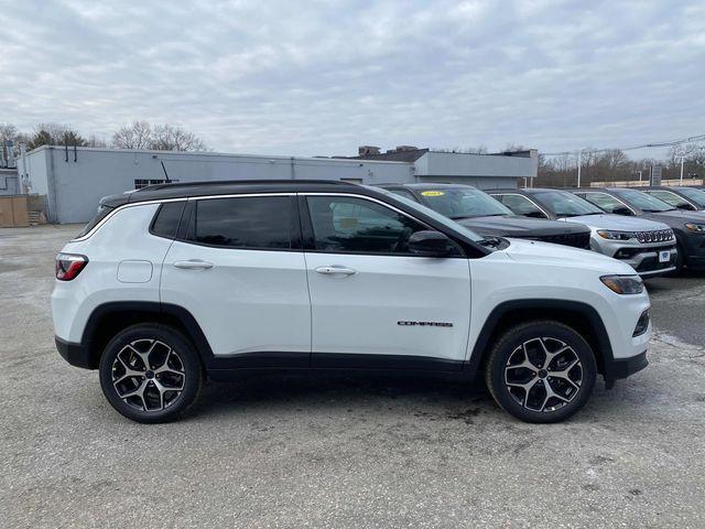
[[(74, 155), (75, 154), (75, 155)], [(413, 181), (413, 166), (399, 162), (325, 158), (257, 156), (42, 147), (24, 156), (30, 193), (47, 195), (47, 218), (59, 224), (86, 223), (100, 198), (134, 190), (135, 180), (180, 182), (218, 180), (321, 179), (383, 183)]]

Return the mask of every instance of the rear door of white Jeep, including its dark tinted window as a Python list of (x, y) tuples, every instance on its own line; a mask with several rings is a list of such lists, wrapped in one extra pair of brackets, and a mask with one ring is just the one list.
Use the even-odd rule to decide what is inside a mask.
[[(305, 367), (311, 303), (293, 196), (192, 201), (161, 300), (188, 310), (227, 367)], [(224, 366), (224, 364), (220, 364)]]

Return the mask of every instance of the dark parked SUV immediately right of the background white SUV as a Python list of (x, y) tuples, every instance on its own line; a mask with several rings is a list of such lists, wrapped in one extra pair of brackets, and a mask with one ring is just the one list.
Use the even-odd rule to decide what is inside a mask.
[(705, 213), (677, 209), (655, 196), (630, 187), (589, 187), (575, 190), (574, 193), (605, 212), (668, 224), (677, 241), (676, 269), (705, 268)]

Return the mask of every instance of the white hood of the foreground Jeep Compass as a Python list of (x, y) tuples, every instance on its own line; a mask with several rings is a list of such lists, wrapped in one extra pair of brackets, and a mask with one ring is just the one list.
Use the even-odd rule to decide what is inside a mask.
[(560, 264), (595, 270), (605, 274), (636, 276), (633, 268), (622, 261), (590, 250), (581, 250), (567, 246), (552, 245), (536, 240), (508, 239), (509, 246), (503, 251), (518, 262)]

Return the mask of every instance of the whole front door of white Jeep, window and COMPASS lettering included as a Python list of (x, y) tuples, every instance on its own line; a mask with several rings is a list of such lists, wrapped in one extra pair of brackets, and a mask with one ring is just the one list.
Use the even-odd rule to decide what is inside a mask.
[[(308, 197), (313, 251), (306, 251), (312, 365), (414, 367), (465, 359), (469, 263), (408, 249), (429, 229), (364, 198)], [(304, 223), (308, 224), (308, 223)]]

